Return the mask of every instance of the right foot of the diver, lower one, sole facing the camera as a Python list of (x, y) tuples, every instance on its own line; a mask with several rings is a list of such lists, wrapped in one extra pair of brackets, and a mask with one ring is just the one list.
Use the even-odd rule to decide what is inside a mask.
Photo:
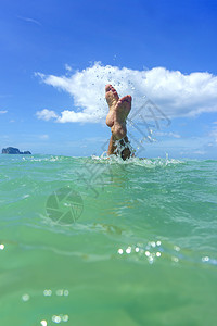
[(118, 140), (127, 135), (126, 120), (131, 110), (131, 96), (126, 96), (119, 99), (113, 108), (112, 117), (113, 126), (112, 134), (114, 139)]

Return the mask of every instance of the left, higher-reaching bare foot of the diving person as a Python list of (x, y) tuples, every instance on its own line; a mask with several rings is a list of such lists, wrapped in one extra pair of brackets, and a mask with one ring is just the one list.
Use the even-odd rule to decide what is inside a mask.
[(117, 101), (119, 100), (118, 93), (112, 85), (105, 86), (105, 99), (107, 101), (110, 112), (106, 117), (106, 125), (112, 127), (114, 125), (114, 112)]

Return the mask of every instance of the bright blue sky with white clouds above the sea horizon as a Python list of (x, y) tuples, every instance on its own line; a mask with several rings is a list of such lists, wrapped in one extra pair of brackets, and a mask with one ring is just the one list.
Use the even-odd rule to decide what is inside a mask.
[(1, 0), (0, 150), (101, 155), (104, 87), (139, 156), (217, 159), (217, 1)]

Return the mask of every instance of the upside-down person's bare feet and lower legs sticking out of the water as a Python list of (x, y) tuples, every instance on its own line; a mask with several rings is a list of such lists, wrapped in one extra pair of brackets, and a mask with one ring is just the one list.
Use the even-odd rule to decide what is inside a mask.
[(110, 108), (106, 125), (112, 131), (107, 154), (119, 155), (123, 160), (127, 160), (132, 155), (126, 126), (132, 98), (130, 95), (127, 95), (120, 99), (116, 89), (111, 84), (107, 84), (105, 86), (105, 99)]

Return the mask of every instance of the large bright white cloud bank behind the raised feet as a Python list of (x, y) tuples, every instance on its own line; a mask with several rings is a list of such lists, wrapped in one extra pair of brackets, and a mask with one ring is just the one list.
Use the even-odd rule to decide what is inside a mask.
[[(71, 76), (41, 73), (36, 75), (44, 84), (73, 96), (77, 110), (62, 111), (56, 118), (60, 123), (99, 123), (102, 118), (104, 121), (107, 113), (104, 100), (106, 84), (112, 84), (120, 97), (127, 93), (132, 96), (131, 114), (145, 103), (146, 98), (151, 99), (169, 118), (217, 112), (217, 76), (209, 73), (184, 75), (179, 71), (168, 71), (164, 67), (133, 71), (95, 63)], [(145, 108), (143, 108), (144, 111)], [(52, 117), (56, 117), (53, 111), (50, 112), (52, 112)], [(40, 116), (40, 112), (38, 114)]]

